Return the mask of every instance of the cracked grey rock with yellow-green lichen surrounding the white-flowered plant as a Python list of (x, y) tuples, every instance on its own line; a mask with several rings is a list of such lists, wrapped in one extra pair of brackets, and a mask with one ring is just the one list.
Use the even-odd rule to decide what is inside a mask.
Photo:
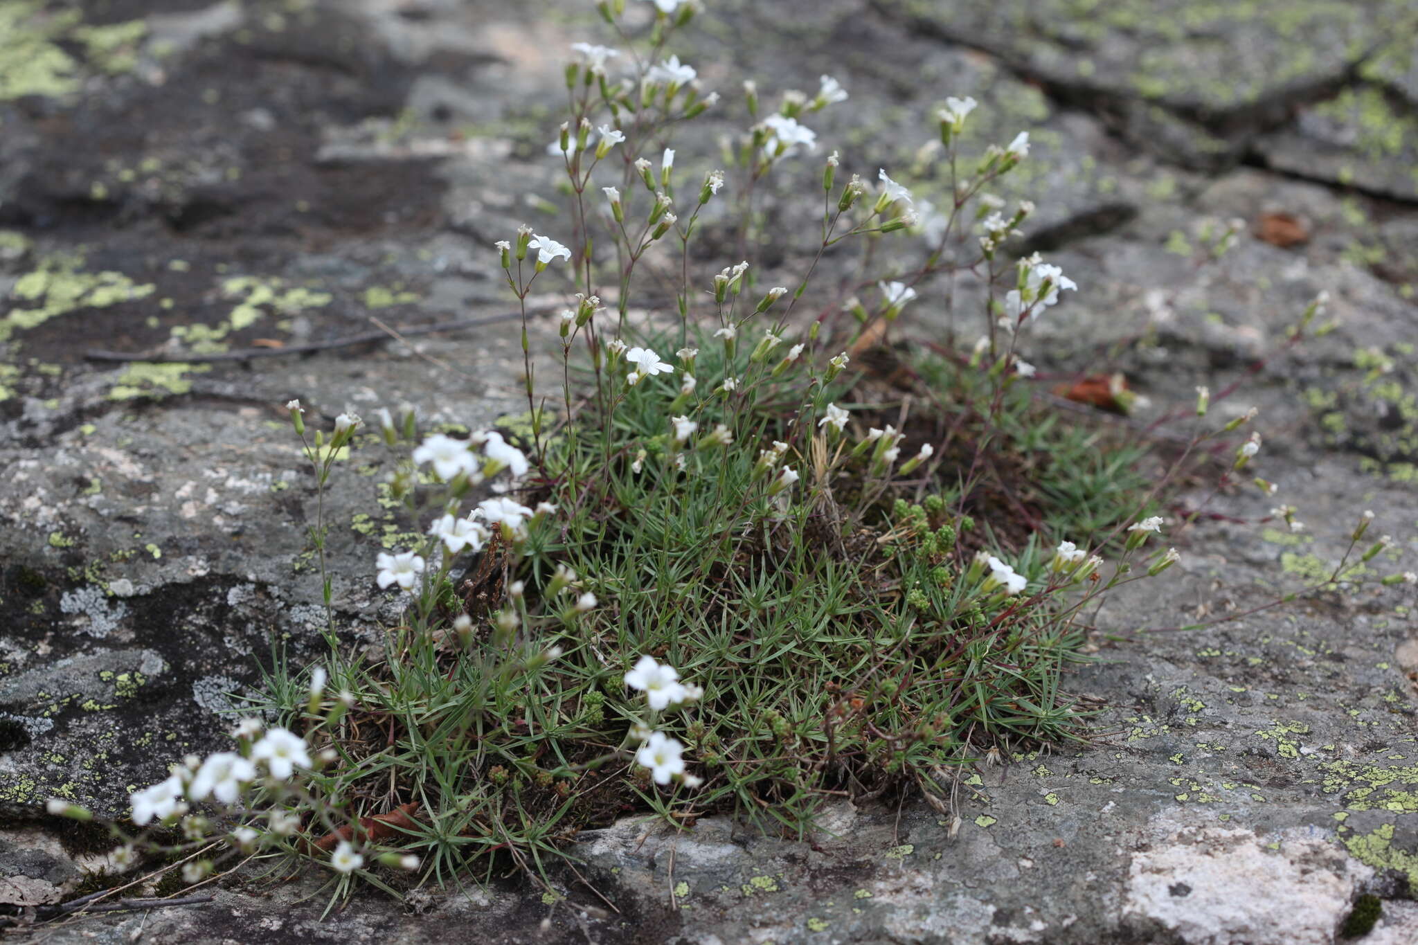
[[(1170, 579), (1107, 604), (1071, 679), (1105, 707), (1095, 742), (963, 769), (957, 827), (909, 798), (842, 802), (808, 839), (628, 817), (577, 846), (598, 894), (564, 876), (554, 905), (509, 880), (322, 918), (322, 877), (251, 876), (48, 941), (1330, 942), (1361, 894), (1383, 900), (1363, 941), (1418, 941), (1418, 594), (1146, 632), (1323, 578), (1364, 509), (1397, 540), (1370, 572), (1418, 568), (1415, 6), (712, 6), (705, 88), (727, 101), (753, 77), (771, 101), (837, 77), (852, 98), (813, 126), (864, 177), (885, 166), (943, 203), (946, 95), (981, 102), (967, 149), (1028, 129), (1000, 193), (1039, 204), (1025, 241), (1079, 283), (1025, 339), (1038, 383), (1123, 371), (1146, 425), (1244, 381), (1211, 419), (1261, 407), (1255, 468), (1279, 494), (1217, 497)], [(506, 313), (491, 242), (554, 225), (545, 149), (577, 40), (604, 41), (591, 4), (0, 0), (0, 902), (58, 901), (99, 864), (45, 798), (121, 812), (225, 744), (272, 640), (320, 655), (315, 490), (281, 404), (326, 425), (383, 404), (462, 426), (526, 411), (499, 324), (203, 358)], [(686, 176), (735, 120), (688, 132)], [(793, 194), (764, 205), (811, 221)], [(1261, 239), (1268, 214), (1303, 235)], [(1236, 247), (1208, 261), (1232, 218)], [(716, 224), (718, 266), (735, 249)], [(769, 269), (800, 271), (804, 232)], [(1286, 347), (1320, 290), (1336, 324)], [(961, 281), (951, 320), (916, 316), (968, 343), (977, 293)], [(397, 616), (370, 565), (413, 527), (380, 502), (374, 441), (328, 497), (350, 642)], [(1305, 531), (1254, 524), (1278, 502)]]

